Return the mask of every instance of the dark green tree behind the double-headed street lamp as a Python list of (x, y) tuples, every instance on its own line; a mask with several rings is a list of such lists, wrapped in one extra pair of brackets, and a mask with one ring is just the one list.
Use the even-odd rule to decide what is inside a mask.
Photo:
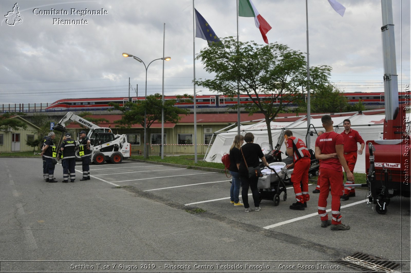
[[(177, 96), (177, 99), (180, 102), (187, 101), (192, 99), (189, 95)], [(176, 99), (167, 99), (164, 100), (164, 122), (169, 123), (178, 123), (181, 119), (180, 114), (187, 115), (189, 113), (188, 109), (182, 109), (175, 107), (174, 104), (177, 102)], [(109, 106), (113, 106), (114, 109), (120, 110), (122, 112), (122, 118), (120, 120), (115, 120), (119, 123), (117, 127), (124, 129), (130, 128), (133, 124), (140, 124), (144, 128), (144, 113), (147, 116), (147, 129), (156, 122), (162, 120), (162, 95), (156, 93), (154, 95), (148, 95), (145, 100), (139, 100), (138, 103), (127, 102), (124, 106), (120, 104), (110, 102)], [(144, 143), (146, 139), (143, 140)]]

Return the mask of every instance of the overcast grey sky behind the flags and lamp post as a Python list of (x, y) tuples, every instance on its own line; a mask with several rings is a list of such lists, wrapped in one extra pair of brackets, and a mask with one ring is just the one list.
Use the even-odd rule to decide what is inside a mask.
[[(236, 36), (236, 0), (195, 0), (195, 7), (218, 37)], [(345, 92), (383, 93), (381, 1), (339, 0), (344, 17), (327, 0), (308, 1), (310, 65), (330, 65), (331, 81)], [(253, 0), (272, 26), (268, 42), (307, 52), (304, 0)], [(1, 1), (0, 104), (54, 102), (63, 98), (144, 95), (146, 65), (162, 58), (165, 27), (165, 94), (193, 93), (193, 1), (101, 0), (18, 1), (23, 22), (7, 25), (15, 2)], [(37, 9), (36, 9), (37, 8)], [(106, 15), (70, 15), (71, 9), (106, 10)], [(68, 15), (38, 11), (67, 10)], [(33, 12), (34, 11), (34, 12)], [(12, 15), (12, 14), (11, 14)], [(399, 85), (410, 83), (410, 1), (393, 0)], [(87, 20), (87, 25), (53, 24)], [(10, 21), (9, 21), (10, 22)], [(263, 44), (253, 18), (239, 18), (240, 41)], [(195, 52), (207, 46), (195, 39)], [(196, 77), (212, 75), (196, 61)], [(196, 87), (199, 94), (212, 94)], [(162, 92), (162, 61), (148, 68), (147, 95)]]

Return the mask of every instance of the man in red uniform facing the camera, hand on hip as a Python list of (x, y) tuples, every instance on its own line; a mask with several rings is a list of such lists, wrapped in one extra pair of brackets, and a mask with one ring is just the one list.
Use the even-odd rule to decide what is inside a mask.
[[(344, 137), (344, 158), (352, 173), (354, 173), (354, 167), (357, 162), (357, 153), (363, 154), (365, 142), (360, 136), (358, 131), (351, 129), (351, 121), (347, 118), (344, 120), (344, 132), (341, 135)], [(358, 148), (357, 143), (361, 144), (361, 148)], [(346, 185), (353, 184), (354, 182), (347, 178)], [(350, 197), (356, 196), (355, 187), (346, 187), (341, 199), (348, 200)]]

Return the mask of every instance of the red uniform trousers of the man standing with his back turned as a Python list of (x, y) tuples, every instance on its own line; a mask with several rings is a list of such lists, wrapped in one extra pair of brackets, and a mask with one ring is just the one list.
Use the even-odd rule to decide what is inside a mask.
[(321, 187), (320, 196), (318, 199), (318, 214), (321, 217), (321, 221), (328, 220), (327, 209), (327, 198), (330, 192), (331, 186), (331, 214), (332, 220), (331, 224), (341, 224), (341, 215), (339, 209), (341, 206), (340, 197), (344, 192), (344, 185), (342, 181), (344, 180), (344, 174), (342, 171), (335, 171), (331, 169), (320, 169), (321, 172)]

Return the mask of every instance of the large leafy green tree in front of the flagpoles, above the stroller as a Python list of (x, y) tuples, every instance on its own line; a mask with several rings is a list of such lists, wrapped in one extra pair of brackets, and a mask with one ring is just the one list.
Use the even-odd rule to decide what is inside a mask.
[[(307, 84), (307, 62), (303, 53), (289, 49), (283, 44), (260, 45), (255, 42), (236, 42), (233, 37), (222, 39), (224, 47), (204, 48), (196, 59), (201, 60), (205, 70), (215, 73), (214, 79), (199, 79), (196, 84), (212, 91), (236, 98), (237, 82), (240, 94), (248, 95), (252, 104), (247, 104), (249, 115), (263, 113), (268, 141), (272, 146), (270, 123), (280, 111), (302, 99), (299, 94)], [(331, 67), (311, 67), (311, 83), (321, 86), (328, 83)], [(259, 95), (269, 94), (262, 99)], [(235, 108), (237, 106), (234, 106)]]

